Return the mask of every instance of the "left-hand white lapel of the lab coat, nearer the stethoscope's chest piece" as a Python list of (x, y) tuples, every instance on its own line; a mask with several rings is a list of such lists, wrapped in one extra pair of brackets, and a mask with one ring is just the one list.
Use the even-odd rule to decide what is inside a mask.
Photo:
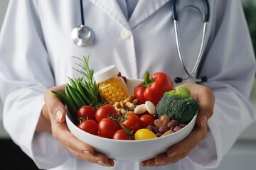
[(114, 21), (116, 21), (120, 26), (123, 26), (127, 30), (130, 30), (127, 19), (124, 16), (119, 4), (116, 0), (89, 0), (92, 4), (99, 7), (102, 11), (107, 13)]

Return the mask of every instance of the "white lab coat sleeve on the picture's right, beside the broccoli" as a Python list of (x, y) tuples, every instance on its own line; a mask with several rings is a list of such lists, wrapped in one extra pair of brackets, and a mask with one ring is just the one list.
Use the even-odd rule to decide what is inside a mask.
[(188, 159), (207, 168), (216, 167), (235, 140), (254, 119), (249, 101), (255, 79), (255, 55), (240, 1), (212, 2), (213, 36), (208, 42), (202, 75), (215, 94), (210, 132)]

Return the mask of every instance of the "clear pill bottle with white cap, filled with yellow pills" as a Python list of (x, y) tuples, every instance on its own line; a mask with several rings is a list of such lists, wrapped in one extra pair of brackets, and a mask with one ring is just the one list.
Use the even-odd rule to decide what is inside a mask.
[(100, 96), (103, 101), (113, 105), (116, 102), (124, 101), (129, 96), (129, 91), (115, 65), (105, 67), (93, 75), (99, 85)]

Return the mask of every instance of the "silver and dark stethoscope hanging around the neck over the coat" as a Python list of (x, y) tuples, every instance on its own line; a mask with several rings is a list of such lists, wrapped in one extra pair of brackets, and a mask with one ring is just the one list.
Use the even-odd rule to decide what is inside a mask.
[[(202, 0), (202, 1), (205, 6), (204, 12), (201, 10), (201, 8), (198, 8), (197, 6), (192, 6), (192, 5), (184, 6), (180, 10), (180, 11), (182, 11), (185, 8), (194, 8), (197, 11), (199, 11), (201, 13), (201, 15), (203, 16), (203, 34), (202, 34), (202, 39), (201, 39), (201, 47), (198, 52), (196, 64), (193, 67), (192, 72), (188, 72), (186, 64), (183, 60), (183, 56), (181, 54), (181, 45), (180, 45), (180, 40), (179, 40), (179, 36), (178, 36), (178, 13), (176, 10), (177, 0), (173, 0), (173, 3), (171, 4), (171, 11), (173, 13), (172, 20), (174, 21), (174, 32), (175, 32), (175, 38), (176, 38), (176, 46), (177, 46), (177, 50), (178, 50), (178, 57), (179, 57), (179, 60), (181, 60), (183, 69), (185, 70), (185, 72), (188, 76), (186, 78), (176, 77), (174, 79), (174, 81), (176, 83), (181, 83), (183, 80), (186, 80), (186, 79), (192, 79), (193, 81), (196, 81), (196, 82), (206, 82), (207, 81), (207, 77), (201, 77), (201, 78), (193, 77), (193, 74), (195, 74), (196, 71), (198, 70), (198, 65), (202, 60), (203, 48), (204, 48), (205, 39), (206, 39), (206, 29), (207, 29), (207, 24), (208, 24), (208, 21), (210, 18), (209, 2), (208, 2), (208, 0)], [(82, 0), (80, 0), (81, 25), (73, 28), (73, 30), (71, 32), (71, 38), (73, 39), (73, 42), (75, 43), (75, 45), (78, 45), (79, 47), (86, 47), (88, 45), (92, 45), (92, 43), (95, 40), (95, 33), (92, 31), (92, 29), (90, 27), (85, 26), (85, 19), (84, 19), (83, 13), (84, 12), (83, 12), (83, 8), (82, 8)]]

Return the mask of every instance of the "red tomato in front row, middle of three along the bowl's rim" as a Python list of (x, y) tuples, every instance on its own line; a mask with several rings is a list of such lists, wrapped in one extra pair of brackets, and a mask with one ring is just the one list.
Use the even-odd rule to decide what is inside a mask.
[(121, 125), (117, 121), (111, 120), (110, 118), (103, 118), (98, 124), (100, 135), (107, 138), (112, 138), (114, 132), (117, 132), (121, 128)]

